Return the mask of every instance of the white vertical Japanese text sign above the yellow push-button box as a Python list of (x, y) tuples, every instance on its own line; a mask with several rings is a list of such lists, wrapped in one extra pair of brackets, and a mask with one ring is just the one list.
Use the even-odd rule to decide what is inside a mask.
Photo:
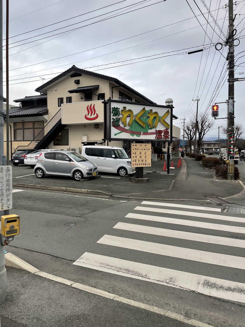
[(0, 210), (12, 209), (12, 166), (0, 166)]

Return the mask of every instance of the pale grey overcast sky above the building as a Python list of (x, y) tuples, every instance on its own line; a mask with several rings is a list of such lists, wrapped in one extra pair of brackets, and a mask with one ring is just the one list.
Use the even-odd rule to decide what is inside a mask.
[[(43, 0), (42, 2), (38, 0), (11, 0), (9, 1), (9, 37), (28, 32), (30, 30), (43, 27), (49, 24), (57, 23), (58, 21), (71, 18), (76, 15), (81, 15), (88, 11), (99, 9), (106, 5), (111, 5), (119, 0), (90, 0), (88, 2), (81, 0)], [(210, 25), (206, 26), (206, 21), (203, 16), (198, 16), (199, 22), (203, 25), (204, 30), (206, 30), (207, 35), (204, 41), (204, 30), (200, 27), (199, 22), (194, 17), (191, 9), (188, 7), (188, 3), (185, 0), (167, 0), (154, 4), (160, 0), (145, 0), (139, 3), (140, 0), (126, 0), (119, 4), (107, 7), (105, 9), (100, 9), (92, 13), (70, 19), (66, 22), (45, 27), (24, 35), (13, 37), (9, 39), (9, 43), (21, 41), (32, 36), (36, 36), (42, 33), (50, 32), (54, 29), (61, 28), (70, 24), (78, 23), (89, 18), (95, 17), (97, 15), (105, 14), (99, 18), (93, 18), (87, 20), (86, 22), (79, 23), (74, 26), (66, 27), (63, 29), (58, 29), (56, 31), (31, 38), (25, 41), (10, 44), (9, 47), (9, 76), (10, 84), (33, 81), (22, 84), (10, 85), (9, 87), (9, 97), (10, 104), (14, 104), (13, 100), (17, 98), (24, 97), (25, 95), (35, 95), (35, 89), (42, 84), (42, 79), (37, 76), (45, 78), (45, 82), (54, 75), (46, 75), (51, 73), (61, 73), (62, 71), (68, 69), (73, 64), (79, 68), (87, 68), (92, 66), (98, 66), (102, 64), (108, 64), (111, 62), (129, 60), (134, 58), (141, 58), (146, 56), (152, 56), (148, 58), (126, 61), (123, 63), (110, 64), (101, 67), (87, 68), (91, 71), (97, 71), (98, 73), (116, 77), (128, 84), (135, 90), (144, 94), (148, 98), (155, 101), (157, 104), (165, 104), (165, 99), (172, 97), (174, 104), (174, 113), (179, 117), (177, 123), (174, 124), (181, 126), (180, 118), (186, 116), (186, 119), (195, 113), (196, 103), (192, 101), (192, 98), (196, 99), (197, 96), (200, 98), (199, 110), (205, 111), (208, 108), (208, 114), (210, 115), (211, 106), (208, 106), (212, 94), (215, 90), (218, 79), (221, 75), (222, 68), (226, 67), (227, 61), (224, 57), (227, 55), (228, 47), (222, 48), (219, 52), (215, 50), (214, 46), (210, 47), (210, 39), (212, 43), (217, 43), (218, 41), (224, 43), (223, 34), (219, 39), (220, 30), (219, 27), (214, 25), (212, 17), (207, 13), (207, 9), (204, 7), (203, 1), (196, 0), (201, 11), (205, 14), (206, 19), (210, 22)], [(193, 0), (188, 0), (191, 8), (196, 15), (200, 15), (200, 11), (195, 5)], [(217, 23), (221, 27), (223, 25), (223, 33), (227, 34), (228, 28), (228, 13), (224, 8), (225, 4), (228, 2), (225, 0), (211, 0), (210, 10), (218, 9), (220, 3), (220, 9), (212, 11), (212, 15), (217, 16)], [(5, 2), (4, 2), (5, 3)], [(31, 3), (31, 6), (30, 6)], [(209, 8), (210, 0), (205, 0), (206, 6)], [(82, 5), (81, 5), (82, 4)], [(71, 31), (66, 35), (60, 34), (53, 37), (45, 38), (60, 32), (68, 31), (75, 27), (80, 27), (83, 25), (96, 22), (106, 17), (117, 15), (119, 13), (124, 13), (130, 10), (138, 9), (150, 4), (152, 6), (139, 9), (130, 13), (126, 13), (119, 17), (111, 18), (103, 22), (99, 22), (90, 26), (80, 28), (75, 31)], [(47, 8), (43, 8), (46, 7)], [(125, 6), (130, 6), (123, 8)], [(43, 9), (42, 9), (43, 8)], [(116, 10), (115, 12), (110, 12)], [(34, 12), (32, 12), (34, 11)], [(30, 13), (32, 12), (32, 13)], [(237, 26), (236, 37), (244, 37), (245, 29), (245, 1), (238, 1), (237, 6), (234, 6), (234, 14), (237, 14), (235, 20), (235, 27)], [(226, 15), (226, 18), (225, 18)], [(5, 9), (4, 9), (5, 17)], [(190, 18), (190, 19), (189, 19)], [(182, 21), (186, 19), (185, 21)], [(3, 19), (5, 22), (5, 19)], [(176, 23), (178, 21), (182, 21)], [(176, 23), (176, 24), (172, 24)], [(112, 43), (121, 39), (129, 38), (137, 34), (148, 32), (150, 30), (172, 24), (171, 26), (163, 27), (155, 31), (145, 33), (140, 36), (130, 38), (125, 41), (117, 42), (114, 44), (106, 45), (107, 43)], [(187, 29), (190, 29), (187, 31)], [(241, 33), (240, 33), (241, 32)], [(217, 34), (218, 35), (217, 35)], [(240, 34), (239, 34), (240, 33)], [(212, 37), (213, 35), (213, 37)], [(32, 43), (27, 43), (33, 40), (41, 39)], [(160, 38), (160, 39), (159, 39)], [(5, 39), (5, 24), (4, 24), (4, 36)], [(156, 41), (152, 41), (158, 39)], [(152, 41), (152, 42), (149, 42)], [(146, 43), (147, 42), (147, 43)], [(22, 43), (27, 43), (20, 45)], [(41, 44), (39, 44), (41, 43)], [(141, 43), (146, 43), (138, 45)], [(5, 44), (5, 41), (3, 41)], [(195, 54), (186, 54), (186, 51), (194, 49), (202, 49), (203, 45), (204, 51)], [(16, 46), (18, 45), (18, 46)], [(55, 59), (58, 57), (63, 57), (67, 55), (74, 54), (76, 52), (81, 52), (94, 47), (102, 46), (98, 49), (86, 51), (77, 55), (72, 55), (67, 58), (62, 58), (58, 60), (52, 60), (49, 62), (41, 63), (38, 65), (33, 65), (26, 68), (17, 69), (19, 67), (36, 64), (42, 61), (47, 61)], [(137, 46), (135, 46), (137, 45)], [(124, 48), (129, 48), (126, 50), (118, 51)], [(191, 48), (193, 47), (193, 48)], [(209, 49), (210, 47), (210, 49)], [(27, 49), (28, 48), (28, 49)], [(191, 48), (191, 49), (187, 49)], [(5, 49), (5, 47), (4, 47)], [(187, 49), (187, 50), (182, 50)], [(181, 51), (175, 51), (181, 50)], [(239, 52), (245, 50), (245, 38), (240, 38), (240, 44), (235, 47), (235, 55)], [(117, 51), (117, 52), (115, 52)], [(171, 52), (175, 51), (175, 52)], [(111, 53), (114, 52), (114, 53)], [(122, 65), (126, 63), (136, 62), (140, 60), (152, 59), (155, 57), (166, 56), (167, 52), (169, 54), (179, 54), (175, 56), (169, 56), (154, 60), (148, 60), (140, 63), (134, 63), (130, 65), (124, 65), (121, 67), (108, 68), (112, 66)], [(222, 56), (221, 55), (222, 52)], [(107, 54), (111, 53), (111, 54)], [(238, 54), (235, 61), (245, 52)], [(5, 57), (5, 51), (3, 51), (3, 56)], [(100, 56), (100, 57), (98, 57)], [(98, 57), (90, 59), (92, 57)], [(202, 58), (202, 60), (201, 60)], [(4, 59), (5, 60), (5, 59)], [(211, 65), (211, 62), (213, 63)], [(81, 62), (77, 62), (81, 61)], [(245, 77), (243, 73), (245, 72), (245, 56), (237, 60), (237, 64), (241, 63), (241, 66), (236, 67), (235, 77)], [(201, 62), (201, 65), (200, 65)], [(206, 65), (205, 65), (206, 63)], [(210, 69), (211, 65), (211, 69)], [(61, 67), (57, 67), (61, 66)], [(198, 77), (198, 71), (200, 66), (200, 72)], [(57, 68), (55, 68), (57, 67)], [(97, 70), (101, 68), (106, 68), (104, 70)], [(204, 69), (205, 68), (205, 69)], [(13, 70), (11, 70), (13, 69)], [(210, 71), (209, 71), (210, 69)], [(5, 69), (4, 69), (5, 70)], [(216, 72), (215, 72), (216, 70)], [(37, 72), (39, 71), (39, 72)], [(224, 72), (225, 70), (223, 70)], [(31, 73), (31, 74), (27, 74)], [(215, 73), (215, 75), (214, 75)], [(16, 76), (20, 75), (21, 76)], [(4, 73), (5, 76), (5, 73)], [(225, 75), (227, 76), (227, 74)], [(18, 79), (17, 78), (24, 78)], [(197, 79), (198, 77), (198, 79)], [(221, 79), (223, 73), (221, 75)], [(206, 80), (207, 79), (207, 80)], [(4, 79), (6, 80), (6, 79)], [(12, 80), (12, 81), (11, 81)], [(213, 102), (223, 102), (228, 97), (228, 83), (227, 78), (224, 77), (224, 85), (221, 88), (219, 95)], [(206, 84), (205, 84), (206, 81)], [(223, 83), (222, 81), (222, 83)], [(197, 83), (197, 85), (196, 85)], [(221, 85), (222, 85), (221, 83)], [(245, 135), (245, 121), (244, 121), (244, 103), (245, 103), (245, 81), (240, 81), (235, 83), (235, 123), (239, 123), (243, 127)], [(220, 90), (220, 89), (218, 89)], [(4, 95), (6, 88), (4, 87)], [(190, 105), (190, 106), (189, 106)], [(220, 105), (220, 117), (226, 116), (226, 105)], [(225, 120), (215, 121), (215, 126), (207, 134), (208, 139), (215, 139), (218, 136), (218, 126), (226, 125)], [(222, 135), (221, 135), (222, 137)]]

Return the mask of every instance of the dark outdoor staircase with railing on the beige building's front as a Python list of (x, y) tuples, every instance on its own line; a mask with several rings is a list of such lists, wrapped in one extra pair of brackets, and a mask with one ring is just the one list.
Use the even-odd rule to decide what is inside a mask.
[(35, 136), (35, 138), (27, 146), (18, 146), (15, 151), (21, 149), (45, 149), (54, 138), (65, 128), (66, 125), (61, 124), (61, 108), (43, 127), (43, 129)]

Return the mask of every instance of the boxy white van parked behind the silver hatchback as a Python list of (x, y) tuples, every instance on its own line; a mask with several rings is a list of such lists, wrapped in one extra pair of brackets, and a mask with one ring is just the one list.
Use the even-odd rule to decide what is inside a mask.
[(98, 171), (117, 173), (119, 176), (135, 173), (122, 147), (116, 146), (83, 146), (81, 155), (96, 164)]

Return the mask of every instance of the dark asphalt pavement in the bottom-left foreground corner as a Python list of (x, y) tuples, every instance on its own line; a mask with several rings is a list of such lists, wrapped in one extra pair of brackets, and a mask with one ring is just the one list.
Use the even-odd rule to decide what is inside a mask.
[(79, 284), (75, 288), (24, 270), (7, 267), (7, 282), (8, 298), (0, 305), (1, 327), (189, 326), (170, 318), (174, 315), (170, 311), (141, 308), (140, 302), (107, 292), (99, 296), (79, 289)]

